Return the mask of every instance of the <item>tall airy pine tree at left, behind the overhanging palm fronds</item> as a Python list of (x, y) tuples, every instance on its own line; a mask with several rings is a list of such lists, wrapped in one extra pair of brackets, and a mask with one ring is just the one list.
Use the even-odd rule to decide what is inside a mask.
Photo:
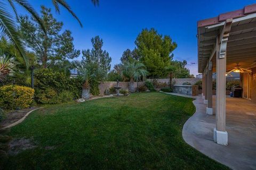
[(45, 32), (34, 18), (20, 17), (20, 32), (26, 45), (42, 61), (43, 67), (78, 57), (80, 51), (74, 48), (71, 31), (65, 30), (61, 33), (63, 23), (53, 18), (50, 8), (41, 8)]

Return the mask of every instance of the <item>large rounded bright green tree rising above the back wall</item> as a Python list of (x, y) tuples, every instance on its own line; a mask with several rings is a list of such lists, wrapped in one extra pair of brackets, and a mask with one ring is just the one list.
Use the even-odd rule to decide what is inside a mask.
[(135, 40), (135, 52), (147, 67), (151, 78), (166, 77), (166, 67), (171, 64), (173, 50), (177, 47), (170, 36), (162, 36), (153, 28), (143, 29)]

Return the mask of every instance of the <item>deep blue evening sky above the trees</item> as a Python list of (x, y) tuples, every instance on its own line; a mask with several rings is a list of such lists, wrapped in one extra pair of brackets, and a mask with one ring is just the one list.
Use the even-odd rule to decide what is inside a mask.
[[(54, 17), (64, 23), (74, 37), (76, 49), (91, 49), (91, 38), (97, 35), (103, 39), (103, 49), (112, 58), (111, 67), (120, 62), (127, 48), (134, 49), (135, 38), (145, 28), (155, 28), (162, 35), (169, 35), (178, 47), (173, 51), (174, 60), (186, 60), (190, 74), (197, 72), (197, 21), (218, 16), (255, 0), (211, 0), (211, 1), (167, 1), (167, 0), (99, 0), (94, 6), (91, 0), (66, 0), (81, 20), (83, 27), (61, 8)], [(40, 6), (53, 8), (51, 0), (28, 0), (36, 11)], [(21, 14), (26, 12), (18, 8)], [(78, 57), (81, 59), (82, 57)]]

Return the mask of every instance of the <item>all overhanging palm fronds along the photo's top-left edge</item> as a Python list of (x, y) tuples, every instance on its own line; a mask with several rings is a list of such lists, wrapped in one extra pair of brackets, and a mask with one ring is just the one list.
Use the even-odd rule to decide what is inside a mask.
[[(9, 3), (13, 12), (18, 19), (17, 9), (15, 4), (19, 4), (21, 7), (25, 8), (41, 25), (42, 29), (45, 31), (44, 23), (40, 19), (38, 13), (34, 10), (33, 6), (29, 4), (27, 0), (5, 0), (6, 3)], [(91, 0), (94, 5), (99, 4), (99, 0)], [(12, 14), (7, 10), (6, 3), (1, 0), (0, 2), (0, 31), (1, 33), (10, 40), (10, 42), (17, 48), (18, 52), (22, 56), (23, 60), (25, 60), (26, 65), (28, 66), (28, 60), (26, 54), (24, 52), (24, 47), (22, 45), (21, 37), (19, 32), (17, 31), (17, 24), (14, 21)], [(66, 3), (65, 0), (52, 0), (52, 3), (55, 7), (57, 13), (60, 13), (60, 5), (65, 7), (68, 12), (74, 16), (74, 18), (79, 22), (82, 27), (81, 21), (77, 18), (76, 14), (71, 10), (71, 7)], [(46, 31), (45, 31), (46, 32)]]

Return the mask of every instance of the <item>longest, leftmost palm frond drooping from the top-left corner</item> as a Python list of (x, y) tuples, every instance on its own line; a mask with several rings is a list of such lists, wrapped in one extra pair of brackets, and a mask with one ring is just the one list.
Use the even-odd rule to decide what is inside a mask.
[(24, 47), (21, 41), (21, 37), (19, 32), (17, 31), (17, 25), (12, 19), (12, 16), (5, 9), (5, 4), (0, 2), (0, 30), (5, 37), (7, 37), (15, 48), (17, 48), (18, 52), (22, 56), (23, 60), (28, 66), (27, 56), (24, 52)]

